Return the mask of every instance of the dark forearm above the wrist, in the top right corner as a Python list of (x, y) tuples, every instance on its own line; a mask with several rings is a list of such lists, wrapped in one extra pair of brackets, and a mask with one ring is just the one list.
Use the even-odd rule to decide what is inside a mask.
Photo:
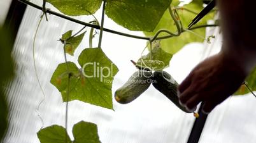
[(248, 74), (256, 65), (256, 1), (218, 0), (222, 53)]

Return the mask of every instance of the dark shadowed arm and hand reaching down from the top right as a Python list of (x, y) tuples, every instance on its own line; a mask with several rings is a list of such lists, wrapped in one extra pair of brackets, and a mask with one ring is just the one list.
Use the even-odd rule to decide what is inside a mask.
[(193, 111), (203, 102), (203, 111), (231, 96), (256, 64), (254, 1), (218, 1), (224, 43), (220, 53), (205, 59), (178, 88), (180, 103)]

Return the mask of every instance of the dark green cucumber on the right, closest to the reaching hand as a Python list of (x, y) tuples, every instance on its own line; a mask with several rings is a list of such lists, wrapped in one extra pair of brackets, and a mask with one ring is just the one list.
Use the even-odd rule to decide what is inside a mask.
[(169, 75), (169, 73), (162, 70), (155, 71), (153, 73), (152, 80), (154, 81), (153, 87), (155, 87), (155, 89), (159, 90), (162, 94), (164, 94), (164, 96), (170, 99), (182, 111), (190, 113), (179, 103), (177, 95), (178, 83), (174, 80), (173, 77), (171, 77), (171, 75)]

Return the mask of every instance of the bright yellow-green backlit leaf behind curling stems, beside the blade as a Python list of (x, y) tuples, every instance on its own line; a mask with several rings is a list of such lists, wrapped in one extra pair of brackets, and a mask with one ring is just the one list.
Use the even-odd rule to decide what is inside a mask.
[[(178, 6), (179, 2), (178, 0), (173, 1), (172, 6)], [(190, 4), (187, 4), (183, 6), (183, 8), (195, 11), (196, 13), (199, 13), (203, 9), (203, 2), (202, 1), (192, 1)], [(185, 9), (181, 10), (178, 9), (178, 14), (180, 16), (180, 20), (183, 24), (184, 28), (187, 28), (188, 24), (192, 22), (193, 18), (196, 16), (194, 13), (188, 12)], [(200, 20), (196, 25), (205, 25), (207, 20), (213, 18), (213, 13), (206, 15), (202, 20)], [(170, 30), (171, 32), (176, 32), (177, 28), (176, 25), (174, 25), (174, 21), (171, 18), (171, 15), (169, 14), (168, 9), (162, 16), (160, 22), (158, 23), (157, 27), (153, 32), (144, 32), (146, 36), (153, 36), (155, 33), (162, 29), (166, 28), (167, 30)], [(193, 30), (196, 32), (196, 34), (201, 35), (202, 37), (205, 36), (205, 28), (200, 28)], [(163, 36), (167, 34), (160, 34), (159, 36)], [(191, 34), (190, 32), (183, 32), (178, 37), (171, 37), (169, 39), (160, 40), (161, 47), (164, 51), (170, 54), (175, 54), (177, 51), (179, 51), (185, 44), (188, 44), (190, 42), (203, 42), (204, 39), (201, 37), (198, 37), (197, 35)]]

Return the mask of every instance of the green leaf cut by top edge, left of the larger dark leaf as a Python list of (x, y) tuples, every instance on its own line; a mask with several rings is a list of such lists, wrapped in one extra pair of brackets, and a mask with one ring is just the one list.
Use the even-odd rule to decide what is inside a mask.
[(46, 0), (65, 15), (91, 15), (101, 7), (102, 0)]

